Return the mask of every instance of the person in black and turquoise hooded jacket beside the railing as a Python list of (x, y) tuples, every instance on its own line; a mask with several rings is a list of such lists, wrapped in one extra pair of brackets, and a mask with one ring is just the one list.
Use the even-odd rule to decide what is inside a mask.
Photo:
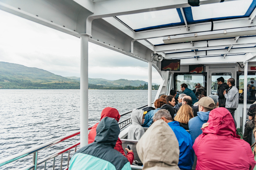
[(131, 170), (128, 159), (114, 149), (119, 133), (114, 118), (103, 118), (96, 128), (95, 141), (76, 151), (69, 170)]

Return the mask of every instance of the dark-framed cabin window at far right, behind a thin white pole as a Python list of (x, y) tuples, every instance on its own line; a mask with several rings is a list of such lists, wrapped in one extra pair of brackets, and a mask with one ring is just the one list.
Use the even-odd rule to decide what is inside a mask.
[(239, 103), (244, 102), (244, 87), (247, 91), (247, 103), (254, 103), (256, 101), (256, 71), (248, 71), (247, 84), (244, 85), (244, 72), (237, 72), (237, 88), (239, 90)]

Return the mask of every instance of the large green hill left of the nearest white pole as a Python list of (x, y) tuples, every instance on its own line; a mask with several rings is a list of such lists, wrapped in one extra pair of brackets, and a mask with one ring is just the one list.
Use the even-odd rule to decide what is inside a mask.
[(20, 64), (0, 62), (2, 89), (79, 89), (77, 80)]

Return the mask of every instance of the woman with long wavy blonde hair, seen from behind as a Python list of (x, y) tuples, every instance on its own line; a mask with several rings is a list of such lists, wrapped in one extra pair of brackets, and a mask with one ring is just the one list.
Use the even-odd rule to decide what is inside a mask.
[(180, 122), (183, 125), (183, 128), (188, 130), (188, 121), (191, 118), (194, 118), (193, 109), (188, 104), (184, 104), (180, 107), (174, 120)]

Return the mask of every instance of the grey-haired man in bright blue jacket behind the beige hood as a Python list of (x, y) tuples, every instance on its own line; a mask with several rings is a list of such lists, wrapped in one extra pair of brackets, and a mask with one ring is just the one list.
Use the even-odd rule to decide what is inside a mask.
[(169, 125), (179, 142), (179, 168), (182, 170), (191, 170), (194, 163), (194, 150), (192, 148), (193, 141), (191, 135), (184, 128), (180, 127), (178, 122), (173, 121), (166, 109), (161, 109), (155, 113), (153, 120), (157, 121), (159, 119), (164, 120)]

